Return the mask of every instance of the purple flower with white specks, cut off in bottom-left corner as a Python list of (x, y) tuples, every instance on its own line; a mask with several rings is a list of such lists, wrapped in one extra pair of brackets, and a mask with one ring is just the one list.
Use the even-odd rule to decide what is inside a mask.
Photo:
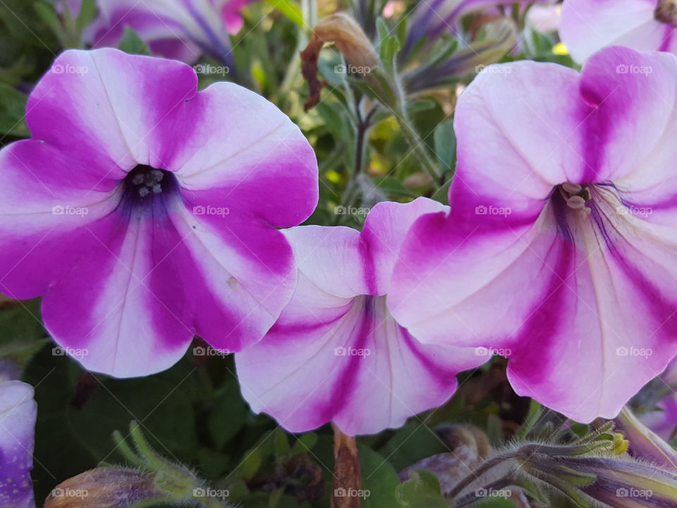
[(0, 508), (35, 508), (30, 470), (36, 416), (30, 385), (0, 381)]

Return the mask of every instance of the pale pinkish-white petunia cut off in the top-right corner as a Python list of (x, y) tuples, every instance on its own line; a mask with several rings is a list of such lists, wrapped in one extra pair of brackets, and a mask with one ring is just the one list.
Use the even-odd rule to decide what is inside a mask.
[(677, 53), (675, 0), (566, 0), (560, 35), (583, 62), (606, 46)]

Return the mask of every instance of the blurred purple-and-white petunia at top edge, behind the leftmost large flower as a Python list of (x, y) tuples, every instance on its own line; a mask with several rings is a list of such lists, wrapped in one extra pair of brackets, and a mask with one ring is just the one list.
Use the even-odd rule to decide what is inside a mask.
[(204, 53), (231, 66), (229, 35), (242, 28), (246, 1), (97, 0), (99, 16), (87, 39), (94, 47), (116, 47), (129, 26), (154, 54), (193, 63)]

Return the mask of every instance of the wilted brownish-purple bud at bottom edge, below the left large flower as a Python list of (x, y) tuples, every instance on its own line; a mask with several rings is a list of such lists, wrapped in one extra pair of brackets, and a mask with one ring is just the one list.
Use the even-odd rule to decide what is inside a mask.
[(44, 508), (126, 508), (141, 502), (167, 500), (153, 473), (99, 467), (68, 478), (49, 493)]

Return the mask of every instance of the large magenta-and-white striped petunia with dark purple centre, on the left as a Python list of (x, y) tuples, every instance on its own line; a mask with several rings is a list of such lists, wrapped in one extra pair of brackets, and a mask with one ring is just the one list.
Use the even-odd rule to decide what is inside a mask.
[(0, 291), (43, 295), (63, 351), (127, 377), (200, 335), (260, 340), (295, 286), (277, 227), (317, 203), (317, 162), (288, 117), (193, 68), (68, 51), (28, 99), (32, 139), (0, 151)]

